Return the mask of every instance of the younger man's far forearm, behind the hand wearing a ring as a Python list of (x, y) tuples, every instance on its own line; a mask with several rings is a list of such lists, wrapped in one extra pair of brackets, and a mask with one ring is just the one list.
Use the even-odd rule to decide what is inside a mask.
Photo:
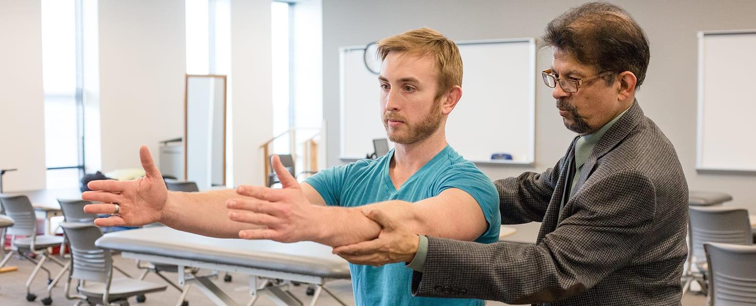
[(169, 192), (160, 223), (203, 236), (239, 238), (240, 230), (256, 228), (256, 225), (228, 218), (226, 201), (239, 197), (233, 189), (203, 193)]

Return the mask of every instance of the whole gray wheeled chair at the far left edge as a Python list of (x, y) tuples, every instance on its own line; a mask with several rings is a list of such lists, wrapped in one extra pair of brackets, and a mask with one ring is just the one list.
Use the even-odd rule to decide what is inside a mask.
[[(11, 235), (11, 252), (8, 252), (5, 258), (0, 261), (0, 267), (5, 266), (14, 254), (20, 255), (35, 264), (34, 270), (32, 270), (32, 273), (29, 274), (29, 278), (26, 280), (26, 301), (34, 301), (37, 298), (37, 295), (31, 292), (32, 282), (37, 274), (39, 274), (39, 270), (45, 270), (49, 286), (48, 296), (42, 298), (42, 304), (51, 304), (52, 298), (49, 292), (54, 283), (57, 283), (57, 279), (63, 275), (66, 264), (52, 256), (48, 252), (48, 248), (59, 246), (64, 242), (64, 238), (62, 236), (37, 235), (37, 218), (28, 197), (0, 196), (0, 204), (2, 204), (5, 214), (14, 221), (14, 225), (7, 229), (8, 234)], [(18, 236), (24, 236), (24, 238)], [(44, 266), (45, 261), (48, 261), (48, 259), (64, 268), (60, 270), (60, 273), (57, 274), (54, 280), (50, 270)]]

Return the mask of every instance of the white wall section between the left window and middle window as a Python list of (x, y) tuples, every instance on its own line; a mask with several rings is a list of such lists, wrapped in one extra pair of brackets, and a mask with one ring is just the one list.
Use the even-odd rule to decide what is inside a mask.
[[(184, 1), (100, 2), (102, 170), (139, 168), (138, 148), (184, 134)], [(91, 169), (95, 170), (95, 169)]]

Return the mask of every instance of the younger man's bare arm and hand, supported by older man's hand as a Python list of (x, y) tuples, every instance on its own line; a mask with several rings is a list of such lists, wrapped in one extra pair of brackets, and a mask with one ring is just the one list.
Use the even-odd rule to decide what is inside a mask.
[[(297, 183), (283, 166), (274, 165), (274, 171), (283, 189), (244, 187), (240, 194), (251, 199), (240, 199), (228, 206), (232, 209), (231, 220), (264, 226), (242, 230), (242, 238), (287, 243), (309, 240), (328, 246), (373, 240), (381, 227), (367, 218), (363, 209), (381, 209), (415, 233), (457, 240), (475, 240), (488, 228), (476, 199), (457, 188), (419, 202), (387, 201), (355, 208), (311, 206), (305, 192), (311, 193), (313, 187)], [(322, 198), (310, 200), (325, 202)]]

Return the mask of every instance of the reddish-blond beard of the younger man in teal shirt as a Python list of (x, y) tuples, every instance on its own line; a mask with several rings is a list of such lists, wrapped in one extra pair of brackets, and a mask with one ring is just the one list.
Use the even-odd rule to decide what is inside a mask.
[[(400, 134), (399, 132), (393, 134), (390, 133), (389, 119), (404, 122), (404, 124), (407, 125), (407, 132), (403, 134)], [(386, 134), (389, 136), (389, 141), (396, 144), (414, 144), (417, 141), (429, 138), (430, 135), (438, 129), (438, 126), (441, 125), (441, 119), (441, 101), (435, 100), (433, 101), (433, 106), (428, 115), (426, 115), (417, 126), (413, 126), (410, 122), (407, 122), (407, 119), (404, 118), (404, 116), (389, 112), (383, 114), (383, 126), (386, 128)]]

